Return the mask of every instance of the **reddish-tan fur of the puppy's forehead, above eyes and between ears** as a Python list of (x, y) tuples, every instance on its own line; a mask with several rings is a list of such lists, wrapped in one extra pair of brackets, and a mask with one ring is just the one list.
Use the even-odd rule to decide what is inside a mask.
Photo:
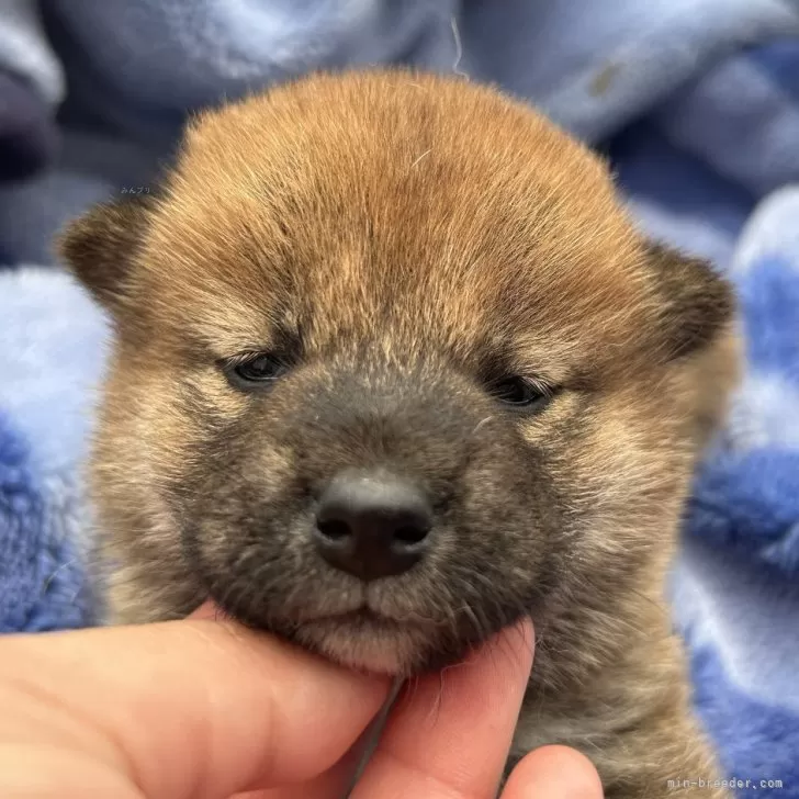
[(181, 335), (220, 355), (279, 323), (317, 348), (436, 331), (453, 349), (507, 337), (529, 358), (553, 355), (555, 330), (570, 350), (592, 330), (618, 348), (640, 323), (641, 261), (586, 148), (494, 91), (379, 71), (199, 117), (142, 258)]

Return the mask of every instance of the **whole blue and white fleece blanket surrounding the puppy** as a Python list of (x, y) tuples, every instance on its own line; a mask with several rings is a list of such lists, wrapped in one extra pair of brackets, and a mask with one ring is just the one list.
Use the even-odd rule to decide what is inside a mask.
[(745, 379), (697, 475), (672, 597), (697, 708), (739, 796), (799, 797), (799, 0), (8, 7), (0, 630), (93, 620), (81, 464), (106, 327), (46, 268), (54, 230), (146, 185), (193, 109), (318, 67), (454, 69), (601, 148), (642, 229), (738, 286)]

